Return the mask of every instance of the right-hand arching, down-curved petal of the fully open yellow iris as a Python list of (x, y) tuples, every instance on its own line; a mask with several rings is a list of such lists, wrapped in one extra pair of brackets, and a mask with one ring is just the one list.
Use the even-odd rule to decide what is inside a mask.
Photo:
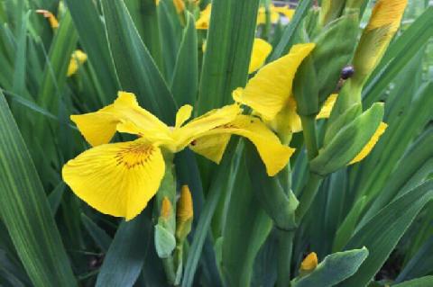
[[(281, 145), (280, 139), (262, 121), (249, 115), (238, 115), (235, 121), (217, 127), (217, 129), (209, 130), (204, 136), (210, 139), (212, 136), (218, 138), (221, 134), (235, 134), (253, 142), (260, 157), (262, 157), (264, 166), (266, 166), (266, 172), (270, 176), (278, 174), (288, 164), (290, 156), (294, 152), (293, 148)], [(213, 141), (216, 148), (225, 147), (226, 139), (218, 139), (220, 140)], [(199, 150), (202, 156), (207, 157), (206, 151), (212, 150), (212, 148), (200, 148), (199, 145), (202, 142), (198, 138), (191, 149), (194, 151)], [(209, 141), (205, 141), (205, 143), (209, 144)], [(215, 154), (211, 154), (207, 158), (212, 160), (215, 158)]]

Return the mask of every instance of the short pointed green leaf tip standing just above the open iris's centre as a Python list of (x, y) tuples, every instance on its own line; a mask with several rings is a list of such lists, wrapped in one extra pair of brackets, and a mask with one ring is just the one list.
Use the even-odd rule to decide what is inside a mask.
[(171, 80), (171, 91), (179, 106), (194, 104), (198, 92), (197, 31), (192, 14), (187, 12), (187, 26), (183, 32), (178, 58)]

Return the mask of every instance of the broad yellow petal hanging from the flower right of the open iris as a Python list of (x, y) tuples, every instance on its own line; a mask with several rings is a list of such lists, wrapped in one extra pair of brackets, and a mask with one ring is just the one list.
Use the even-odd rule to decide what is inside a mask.
[(299, 44), (289, 54), (262, 67), (245, 86), (242, 93), (237, 90), (234, 99), (259, 112), (264, 120), (271, 121), (291, 95), (292, 82), (302, 60), (315, 44)]

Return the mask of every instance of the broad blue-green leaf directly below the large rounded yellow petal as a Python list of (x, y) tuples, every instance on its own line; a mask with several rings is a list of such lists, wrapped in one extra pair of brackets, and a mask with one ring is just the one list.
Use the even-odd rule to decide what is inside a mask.
[(142, 271), (151, 230), (152, 222), (146, 211), (120, 224), (97, 276), (97, 287), (134, 285)]

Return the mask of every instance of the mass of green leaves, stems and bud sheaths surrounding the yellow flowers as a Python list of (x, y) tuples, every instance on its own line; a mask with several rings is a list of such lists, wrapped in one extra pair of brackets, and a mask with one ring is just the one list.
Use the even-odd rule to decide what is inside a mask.
[[(199, 29), (211, 2), (209, 28)], [(341, 69), (374, 1), (297, 2), (273, 3), (296, 6), (275, 20), (269, 0), (0, 0), (0, 286), (433, 286), (433, 7), (408, 1), (401, 30), (358, 86)], [(130, 221), (97, 212), (62, 181), (62, 166), (89, 148), (71, 114), (95, 112), (119, 90), (169, 126), (182, 105), (197, 117), (233, 103), (254, 76), (254, 38), (272, 42), (265, 63), (316, 44), (293, 83), (303, 129), (278, 175), (236, 136), (219, 165), (187, 149)], [(88, 58), (68, 76), (77, 49)], [(317, 120), (335, 93), (331, 119)], [(388, 128), (372, 152), (347, 166), (381, 121)], [(183, 184), (194, 217), (179, 240)], [(162, 222), (164, 196), (173, 209)], [(310, 252), (318, 265), (299, 272)]]

